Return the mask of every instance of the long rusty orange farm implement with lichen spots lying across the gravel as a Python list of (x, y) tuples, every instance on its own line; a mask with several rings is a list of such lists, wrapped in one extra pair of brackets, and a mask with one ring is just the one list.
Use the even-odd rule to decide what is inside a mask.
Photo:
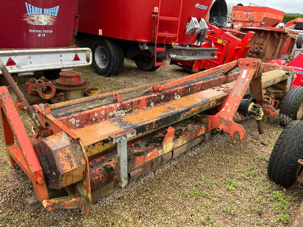
[[(1, 71), (11, 78), (4, 65)], [(13, 102), (8, 89), (0, 87), (4, 143), (12, 167), (27, 174), (48, 212), (79, 208), (88, 215), (100, 196), (212, 133), (225, 131), (232, 141), (241, 141), (245, 130), (238, 121), (246, 117), (254, 117), (262, 133), (260, 120), (267, 115), (275, 119), (275, 109), (294, 79), (291, 67), (240, 58), (158, 84), (34, 105), (34, 145), (17, 112), (30, 107), (21, 96), (21, 102)], [(8, 81), (13, 87), (14, 81)], [(280, 96), (265, 94), (272, 85), (281, 90)], [(59, 196), (62, 189), (67, 196)]]

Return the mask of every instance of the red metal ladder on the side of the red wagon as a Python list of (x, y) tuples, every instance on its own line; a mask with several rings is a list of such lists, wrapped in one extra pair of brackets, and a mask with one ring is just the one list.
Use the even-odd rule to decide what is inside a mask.
[[(154, 11), (155, 13), (158, 13), (157, 26), (156, 26), (156, 38), (155, 38), (155, 66), (165, 65), (164, 61), (157, 62), (157, 52), (165, 52), (165, 47), (157, 47), (158, 37), (159, 36), (175, 37), (178, 40), (179, 27), (180, 27), (180, 17), (181, 17), (181, 10), (182, 10), (182, 3), (183, 3), (183, 0), (181, 0), (181, 3), (180, 3), (180, 9), (179, 9), (179, 15), (178, 15), (178, 17), (161, 16), (160, 15), (161, 0), (159, 0), (158, 11), (156, 11), (156, 10)], [(164, 20), (164, 21), (178, 21), (177, 33), (158, 32), (159, 21), (160, 20)]]

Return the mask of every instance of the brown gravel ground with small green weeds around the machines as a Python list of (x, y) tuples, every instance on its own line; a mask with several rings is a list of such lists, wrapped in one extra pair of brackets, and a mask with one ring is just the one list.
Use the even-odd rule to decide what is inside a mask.
[[(167, 65), (142, 72), (125, 60), (117, 77), (99, 77), (92, 67), (76, 69), (102, 92), (188, 75)], [(41, 74), (35, 74), (40, 77)], [(29, 77), (14, 76), (24, 89)], [(2, 85), (7, 85), (2, 81)], [(11, 94), (12, 91), (10, 90)], [(13, 96), (15, 98), (15, 96)], [(31, 121), (20, 114), (30, 132)], [(263, 125), (258, 135), (254, 120), (241, 122), (246, 137), (231, 143), (227, 133), (217, 133), (143, 178), (103, 196), (89, 216), (79, 210), (29, 212), (25, 199), (34, 195), (32, 184), (21, 171), (9, 168), (2, 133), (0, 175), (1, 226), (288, 226), (302, 199), (295, 183), (283, 188), (267, 176), (271, 150), (282, 128)]]

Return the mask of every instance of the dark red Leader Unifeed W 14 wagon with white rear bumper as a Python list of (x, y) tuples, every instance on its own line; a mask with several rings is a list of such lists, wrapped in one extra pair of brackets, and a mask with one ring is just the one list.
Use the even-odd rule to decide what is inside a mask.
[(64, 4), (59, 0), (0, 0), (0, 5), (0, 58), (10, 73), (53, 70), (46, 74), (55, 76), (59, 69), (67, 71), (92, 63), (90, 49), (74, 46), (78, 0)]

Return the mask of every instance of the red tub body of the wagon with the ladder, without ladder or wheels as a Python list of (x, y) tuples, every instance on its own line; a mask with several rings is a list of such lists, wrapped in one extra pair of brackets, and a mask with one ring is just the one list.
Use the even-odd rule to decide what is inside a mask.
[[(122, 40), (138, 41), (142, 43), (155, 42), (153, 36), (153, 15), (155, 8), (160, 6), (161, 16), (170, 17), (171, 20), (163, 20), (159, 23), (158, 30), (167, 33), (176, 33), (181, 0), (149, 1), (79, 1), (78, 14), (79, 32), (102, 35)], [(186, 25), (191, 17), (205, 18), (212, 0), (183, 1), (178, 43), (192, 44), (198, 34), (185, 34)], [(198, 4), (201, 6), (198, 7)], [(176, 37), (159, 37), (158, 43), (171, 44), (176, 42)]]

